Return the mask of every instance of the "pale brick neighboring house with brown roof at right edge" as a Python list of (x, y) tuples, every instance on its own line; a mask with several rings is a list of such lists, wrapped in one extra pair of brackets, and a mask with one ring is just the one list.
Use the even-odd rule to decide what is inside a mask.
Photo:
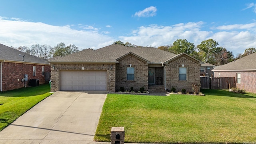
[(212, 71), (214, 77), (235, 77), (239, 89), (256, 92), (256, 53), (217, 66)]

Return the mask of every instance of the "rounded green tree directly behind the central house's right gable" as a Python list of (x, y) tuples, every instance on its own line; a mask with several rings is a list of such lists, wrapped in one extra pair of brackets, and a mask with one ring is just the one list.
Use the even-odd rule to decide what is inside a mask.
[(174, 54), (180, 54), (185, 52), (186, 54), (192, 54), (195, 51), (195, 45), (191, 42), (188, 42), (186, 39), (178, 39), (173, 42), (172, 46), (169, 48), (169, 51)]

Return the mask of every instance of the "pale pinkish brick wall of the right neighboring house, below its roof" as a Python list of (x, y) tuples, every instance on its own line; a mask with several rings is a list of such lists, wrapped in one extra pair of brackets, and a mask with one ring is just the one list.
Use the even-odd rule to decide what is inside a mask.
[[(224, 71), (214, 71), (214, 77), (218, 77), (218, 73), (220, 73), (220, 77), (235, 77), (236, 78), (236, 86), (239, 89), (244, 89), (247, 92), (255, 92), (256, 93), (256, 72), (224, 72)], [(241, 74), (241, 82), (237, 83), (237, 73)]]

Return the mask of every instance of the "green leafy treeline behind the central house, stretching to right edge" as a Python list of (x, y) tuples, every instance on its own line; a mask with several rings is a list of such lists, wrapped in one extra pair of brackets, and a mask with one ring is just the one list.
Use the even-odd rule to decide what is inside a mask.
[[(134, 44), (130, 44), (129, 42), (121, 42), (120, 40), (114, 42), (114, 44), (115, 43), (129, 47), (138, 47)], [(238, 56), (234, 57), (232, 51), (230, 52), (224, 46), (218, 47), (218, 42), (213, 39), (204, 40), (197, 46), (195, 46), (191, 42), (188, 42), (186, 39), (178, 39), (174, 41), (173, 44), (159, 46), (158, 49), (171, 52), (173, 54), (180, 54), (182, 52), (185, 52), (190, 56), (197, 58), (198, 60), (216, 66), (227, 64), (234, 61), (235, 59), (242, 58), (256, 52), (255, 48), (248, 48), (244, 51), (243, 54), (238, 54)]]

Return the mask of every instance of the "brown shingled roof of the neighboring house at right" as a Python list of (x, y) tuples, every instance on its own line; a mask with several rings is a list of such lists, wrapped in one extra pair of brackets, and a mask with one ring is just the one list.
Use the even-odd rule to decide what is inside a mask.
[(217, 66), (212, 71), (251, 71), (256, 70), (256, 52), (243, 58)]

